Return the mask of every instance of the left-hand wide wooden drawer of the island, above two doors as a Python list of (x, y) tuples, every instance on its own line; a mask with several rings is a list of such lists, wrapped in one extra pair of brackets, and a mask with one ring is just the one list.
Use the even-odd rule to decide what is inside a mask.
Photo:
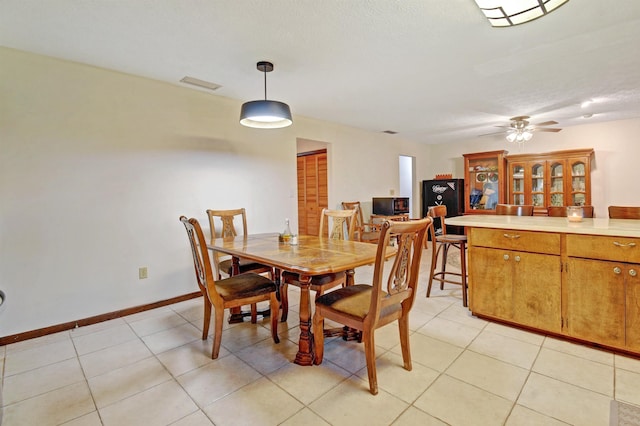
[(560, 254), (560, 234), (513, 229), (471, 228), (472, 245), (531, 253)]

